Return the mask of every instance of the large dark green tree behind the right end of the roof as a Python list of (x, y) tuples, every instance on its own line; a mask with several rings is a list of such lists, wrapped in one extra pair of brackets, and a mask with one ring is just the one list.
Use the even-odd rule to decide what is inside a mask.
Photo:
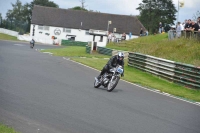
[(140, 12), (138, 19), (150, 33), (157, 33), (159, 22), (166, 25), (176, 20), (177, 10), (172, 0), (142, 0), (136, 9)]

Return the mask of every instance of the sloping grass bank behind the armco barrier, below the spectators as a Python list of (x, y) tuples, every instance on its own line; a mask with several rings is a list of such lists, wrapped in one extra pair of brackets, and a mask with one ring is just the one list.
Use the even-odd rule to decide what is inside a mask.
[(200, 42), (184, 38), (168, 40), (167, 34), (110, 43), (107, 48), (138, 52), (176, 62), (200, 66)]

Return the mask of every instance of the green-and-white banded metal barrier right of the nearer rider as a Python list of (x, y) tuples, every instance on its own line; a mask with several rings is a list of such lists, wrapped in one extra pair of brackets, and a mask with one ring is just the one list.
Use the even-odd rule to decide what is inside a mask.
[(152, 73), (189, 88), (200, 89), (200, 68), (193, 65), (129, 52), (128, 66)]

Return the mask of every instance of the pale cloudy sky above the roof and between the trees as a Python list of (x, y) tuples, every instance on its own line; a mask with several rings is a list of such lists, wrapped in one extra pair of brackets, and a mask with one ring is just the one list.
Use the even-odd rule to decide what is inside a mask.
[[(20, 0), (22, 4), (30, 3), (33, 0)], [(75, 6), (81, 6), (81, 0), (50, 0), (59, 5), (59, 8), (68, 9)], [(193, 15), (200, 11), (200, 0), (179, 0), (184, 1), (185, 5), (179, 10), (179, 21), (193, 19)], [(85, 6), (88, 10), (100, 11), (101, 13), (121, 14), (121, 15), (139, 15), (138, 7), (142, 0), (85, 0)], [(0, 13), (5, 18), (8, 9), (12, 9), (11, 3), (16, 0), (0, 0)], [(176, 8), (178, 0), (173, 0)]]

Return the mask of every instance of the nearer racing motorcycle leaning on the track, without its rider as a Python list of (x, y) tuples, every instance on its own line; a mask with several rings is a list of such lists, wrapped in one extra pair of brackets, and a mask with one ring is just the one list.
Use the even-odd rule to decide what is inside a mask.
[(94, 88), (99, 88), (102, 85), (104, 88), (107, 87), (108, 92), (111, 92), (117, 86), (120, 80), (120, 75), (123, 73), (123, 71), (123, 67), (118, 65), (102, 75), (100, 79), (95, 77)]

